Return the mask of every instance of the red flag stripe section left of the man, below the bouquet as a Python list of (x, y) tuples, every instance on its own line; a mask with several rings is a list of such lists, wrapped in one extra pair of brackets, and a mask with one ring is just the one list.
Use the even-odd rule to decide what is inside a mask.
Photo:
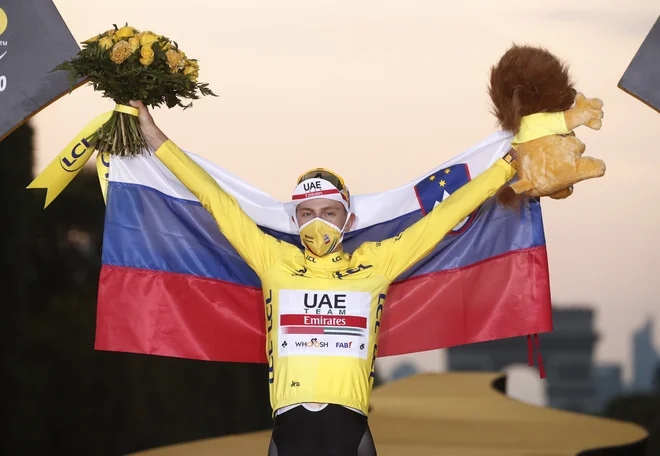
[(265, 319), (258, 288), (103, 265), (95, 348), (265, 363)]

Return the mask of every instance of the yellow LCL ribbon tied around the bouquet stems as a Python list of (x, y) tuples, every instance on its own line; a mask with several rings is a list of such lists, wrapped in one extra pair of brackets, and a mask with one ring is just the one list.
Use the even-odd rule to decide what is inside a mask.
[[(117, 105), (114, 109), (133, 116), (138, 115), (138, 110), (130, 106)], [(46, 201), (44, 208), (48, 207), (55, 198), (76, 177), (80, 170), (94, 153), (94, 147), (88, 142), (88, 138), (105, 124), (112, 116), (113, 111), (101, 114), (89, 122), (80, 133), (58, 154), (57, 157), (39, 174), (27, 188), (45, 188)], [(105, 200), (108, 177), (110, 173), (110, 154), (105, 152), (98, 154), (96, 159), (96, 170), (99, 175), (101, 192)]]

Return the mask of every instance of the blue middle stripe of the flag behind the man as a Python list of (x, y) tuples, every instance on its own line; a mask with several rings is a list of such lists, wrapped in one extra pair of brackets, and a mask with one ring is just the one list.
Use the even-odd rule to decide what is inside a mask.
[[(396, 236), (422, 217), (421, 210), (348, 233), (345, 249)], [(297, 235), (262, 228), (300, 247)], [(520, 212), (487, 201), (467, 230), (449, 234), (434, 252), (398, 280), (468, 266), (512, 250), (545, 244), (541, 206)], [(240, 258), (199, 204), (165, 195), (150, 187), (110, 182), (103, 242), (103, 263), (193, 274), (260, 287), (256, 273)]]

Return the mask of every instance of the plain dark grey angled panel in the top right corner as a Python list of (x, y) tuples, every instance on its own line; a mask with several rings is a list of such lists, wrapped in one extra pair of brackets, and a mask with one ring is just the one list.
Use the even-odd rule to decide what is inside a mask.
[(660, 112), (660, 17), (621, 77), (619, 88)]

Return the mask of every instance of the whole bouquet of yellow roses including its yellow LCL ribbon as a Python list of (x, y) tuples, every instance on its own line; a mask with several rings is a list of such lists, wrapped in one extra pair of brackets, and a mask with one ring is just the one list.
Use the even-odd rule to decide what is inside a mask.
[[(197, 81), (199, 64), (188, 58), (175, 41), (150, 31), (128, 26), (108, 30), (83, 41), (83, 47), (69, 61), (53, 71), (68, 72), (71, 90), (81, 78), (116, 103), (115, 109), (92, 119), (28, 185), (45, 188), (48, 206), (71, 182), (96, 150), (97, 170), (103, 196), (112, 155), (133, 156), (148, 150), (138, 123), (137, 109), (130, 100), (142, 100), (155, 107), (181, 106), (187, 109), (201, 95), (216, 96), (208, 84)], [(199, 94), (198, 94), (199, 92)]]

